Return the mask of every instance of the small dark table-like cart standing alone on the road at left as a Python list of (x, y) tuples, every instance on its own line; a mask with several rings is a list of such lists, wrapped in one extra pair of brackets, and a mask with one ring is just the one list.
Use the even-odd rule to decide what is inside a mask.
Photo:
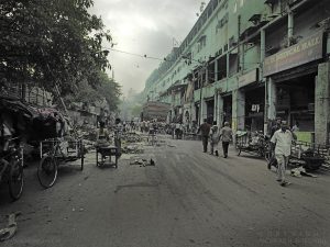
[[(112, 161), (114, 157), (114, 161)], [(97, 167), (113, 166), (118, 168), (118, 159), (120, 154), (116, 146), (97, 146), (96, 147), (96, 165)]]

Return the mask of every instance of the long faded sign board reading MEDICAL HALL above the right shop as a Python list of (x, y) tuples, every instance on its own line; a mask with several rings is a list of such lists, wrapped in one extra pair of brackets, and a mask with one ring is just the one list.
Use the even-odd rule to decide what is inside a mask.
[(323, 57), (323, 33), (315, 34), (297, 45), (265, 58), (264, 76), (297, 67)]

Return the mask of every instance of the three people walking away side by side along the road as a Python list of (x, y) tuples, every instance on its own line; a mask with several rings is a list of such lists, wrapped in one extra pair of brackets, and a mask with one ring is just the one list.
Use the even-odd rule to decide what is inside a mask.
[(209, 124), (207, 122), (207, 119), (204, 120), (204, 123), (200, 125), (200, 127), (197, 131), (197, 134), (201, 135), (201, 142), (202, 142), (202, 148), (204, 153), (208, 151), (208, 143), (210, 139), (210, 146), (211, 146), (211, 155), (219, 156), (218, 151), (218, 144), (221, 141), (222, 143), (222, 150), (223, 150), (223, 157), (228, 157), (228, 148), (229, 144), (232, 141), (232, 130), (229, 125), (229, 122), (224, 122), (223, 127), (220, 128), (217, 125), (217, 122), (213, 122), (213, 125)]

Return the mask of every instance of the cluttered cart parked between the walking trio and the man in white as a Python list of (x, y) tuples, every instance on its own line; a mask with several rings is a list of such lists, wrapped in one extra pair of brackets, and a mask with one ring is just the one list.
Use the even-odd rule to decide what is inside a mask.
[(266, 160), (271, 158), (270, 142), (262, 132), (248, 133), (243, 131), (237, 132), (235, 148), (238, 156), (242, 151), (263, 157)]

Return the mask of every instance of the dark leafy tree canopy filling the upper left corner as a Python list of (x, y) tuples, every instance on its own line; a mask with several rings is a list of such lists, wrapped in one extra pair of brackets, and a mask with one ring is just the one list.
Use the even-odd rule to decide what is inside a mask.
[(88, 13), (92, 0), (6, 0), (0, 2), (0, 77), (34, 83), (63, 96), (99, 80), (109, 67), (102, 20)]

